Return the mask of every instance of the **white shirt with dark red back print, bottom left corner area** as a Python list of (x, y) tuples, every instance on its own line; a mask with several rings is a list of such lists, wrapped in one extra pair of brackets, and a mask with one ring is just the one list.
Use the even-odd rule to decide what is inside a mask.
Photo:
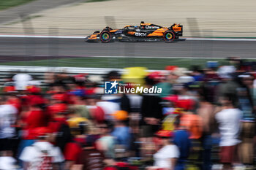
[[(35, 142), (21, 152), (20, 160), (28, 162), (30, 164), (29, 170), (36, 170), (37, 166), (42, 163), (41, 155), (42, 152), (39, 150), (47, 150), (48, 155), (53, 158), (53, 163), (60, 163), (64, 161), (63, 155), (59, 147), (54, 147), (49, 142)], [(34, 166), (31, 166), (34, 165)]]

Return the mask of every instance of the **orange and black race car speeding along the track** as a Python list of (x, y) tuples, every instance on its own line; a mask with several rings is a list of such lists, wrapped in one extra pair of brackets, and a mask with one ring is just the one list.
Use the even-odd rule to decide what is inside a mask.
[(152, 23), (141, 21), (140, 26), (125, 26), (122, 29), (104, 28), (101, 32), (95, 31), (94, 34), (86, 36), (86, 42), (173, 42), (178, 40), (183, 34), (183, 26), (174, 23), (170, 27), (157, 26)]

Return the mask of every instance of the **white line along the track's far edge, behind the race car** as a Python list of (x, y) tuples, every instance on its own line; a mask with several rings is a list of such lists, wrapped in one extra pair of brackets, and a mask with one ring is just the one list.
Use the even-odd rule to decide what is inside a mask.
[[(2, 38), (53, 38), (53, 39), (84, 39), (86, 36), (43, 36), (43, 35), (5, 35), (1, 34)], [(256, 39), (238, 39), (238, 38), (186, 38), (189, 41), (241, 41), (241, 42), (256, 42)]]

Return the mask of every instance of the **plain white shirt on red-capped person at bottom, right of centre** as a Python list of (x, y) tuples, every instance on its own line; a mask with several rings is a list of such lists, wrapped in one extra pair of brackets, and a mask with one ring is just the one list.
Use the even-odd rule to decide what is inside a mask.
[(170, 158), (178, 158), (179, 154), (178, 147), (175, 144), (162, 147), (154, 154), (154, 166), (170, 169), (172, 167)]

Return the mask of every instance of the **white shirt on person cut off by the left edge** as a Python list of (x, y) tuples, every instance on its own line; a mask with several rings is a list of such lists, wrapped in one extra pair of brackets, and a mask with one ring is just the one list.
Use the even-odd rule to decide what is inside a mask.
[(18, 109), (11, 104), (0, 105), (0, 139), (15, 136), (15, 128), (12, 128), (17, 119)]

